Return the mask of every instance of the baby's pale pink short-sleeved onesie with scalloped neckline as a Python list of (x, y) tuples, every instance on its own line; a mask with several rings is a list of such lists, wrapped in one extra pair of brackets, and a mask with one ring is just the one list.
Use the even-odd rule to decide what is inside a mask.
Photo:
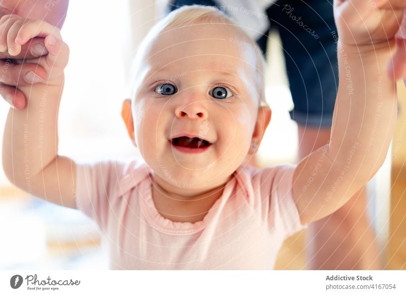
[(111, 269), (270, 270), (284, 239), (306, 227), (293, 200), (294, 168), (240, 166), (192, 224), (159, 214), (142, 159), (78, 164), (76, 205), (106, 233)]

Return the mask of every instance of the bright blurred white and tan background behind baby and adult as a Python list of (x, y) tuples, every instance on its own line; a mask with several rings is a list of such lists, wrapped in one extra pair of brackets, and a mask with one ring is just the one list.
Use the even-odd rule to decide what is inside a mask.
[[(71, 56), (59, 112), (59, 154), (77, 161), (139, 156), (121, 120), (128, 65), (137, 45), (162, 15), (166, 1), (71, 1), (62, 29)], [(97, 9), (95, 9), (97, 7)], [(91, 16), (89, 16), (91, 14)], [(130, 29), (131, 28), (131, 29)], [(258, 151), (261, 166), (295, 163), (297, 126), (278, 35), (270, 35), (266, 72), (272, 121)], [(84, 83), (84, 81), (87, 81)], [(406, 269), (406, 89), (399, 83), (399, 117), (392, 151), (369, 183), (368, 210), (385, 269)], [(8, 104), (0, 100), (0, 135)], [(1, 136), (2, 140), (3, 136)], [(277, 142), (277, 144), (275, 144)], [(108, 269), (107, 244), (80, 211), (16, 188), (0, 169), (0, 269)], [(304, 233), (289, 238), (277, 269), (306, 269)]]

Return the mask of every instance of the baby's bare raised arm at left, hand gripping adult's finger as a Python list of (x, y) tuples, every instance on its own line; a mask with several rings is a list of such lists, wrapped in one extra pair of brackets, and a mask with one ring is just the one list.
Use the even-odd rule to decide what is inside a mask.
[[(45, 81), (19, 87), (27, 97), (27, 107), (9, 110), (3, 139), (6, 176), (32, 195), (75, 208), (76, 165), (57, 155), (58, 107), (69, 48), (61, 40), (57, 27), (40, 20), (8, 15), (2, 17), (0, 31), (0, 47), (7, 47), (13, 55), (20, 52), (21, 45), (36, 36), (45, 38), (49, 52), (29, 61), (38, 62), (45, 69)], [(31, 76), (33, 79), (33, 73)]]

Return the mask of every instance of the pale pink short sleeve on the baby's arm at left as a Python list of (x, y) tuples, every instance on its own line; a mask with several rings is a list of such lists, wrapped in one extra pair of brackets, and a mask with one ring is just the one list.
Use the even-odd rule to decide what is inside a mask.
[(112, 213), (123, 166), (111, 161), (77, 164), (76, 207), (104, 230)]

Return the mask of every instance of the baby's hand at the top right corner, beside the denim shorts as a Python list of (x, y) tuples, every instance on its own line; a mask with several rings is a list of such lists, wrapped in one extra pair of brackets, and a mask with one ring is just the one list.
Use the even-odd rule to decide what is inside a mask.
[(389, 49), (399, 29), (404, 0), (334, 0), (339, 40), (359, 53)]

